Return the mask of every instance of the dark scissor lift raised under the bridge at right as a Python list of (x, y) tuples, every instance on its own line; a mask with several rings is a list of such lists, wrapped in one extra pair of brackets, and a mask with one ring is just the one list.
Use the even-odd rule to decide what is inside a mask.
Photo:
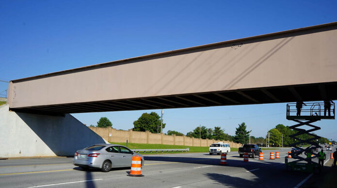
[[(291, 152), (291, 157), (293, 159), (297, 159), (295, 161), (288, 162), (288, 157), (285, 158), (286, 168), (288, 171), (301, 171), (301, 172), (321, 172), (321, 166), (312, 161), (313, 158), (318, 157), (318, 153), (312, 152), (312, 150), (316, 150), (321, 148), (318, 142), (315, 140), (320, 139), (320, 136), (314, 135), (310, 132), (320, 130), (321, 128), (315, 125), (311, 125), (317, 121), (322, 119), (335, 119), (335, 103), (329, 102), (330, 107), (330, 115), (328, 110), (326, 114), (324, 113), (324, 103), (305, 103), (306, 106), (303, 106), (301, 110), (301, 115), (297, 115), (296, 103), (287, 104), (287, 119), (296, 122), (296, 125), (289, 126), (289, 128), (298, 131), (296, 134), (290, 135), (290, 138), (295, 139), (295, 143), (291, 144), (293, 148), (296, 148), (297, 151)], [(311, 129), (305, 130), (303, 128), (298, 128), (300, 126), (307, 125), (312, 127)], [(302, 140), (297, 136), (306, 134), (311, 136), (312, 138), (307, 140)], [(309, 144), (306, 148), (297, 147), (297, 145), (306, 143)], [(313, 157), (301, 157), (300, 154), (310, 152), (313, 154)]]

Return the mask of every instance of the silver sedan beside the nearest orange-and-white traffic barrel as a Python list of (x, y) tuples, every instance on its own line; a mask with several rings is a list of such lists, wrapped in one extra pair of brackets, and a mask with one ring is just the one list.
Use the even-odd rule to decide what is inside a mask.
[[(98, 168), (109, 172), (112, 168), (131, 167), (134, 152), (125, 146), (117, 144), (96, 144), (75, 152), (73, 164), (83, 169)], [(141, 166), (144, 157), (141, 157)]]

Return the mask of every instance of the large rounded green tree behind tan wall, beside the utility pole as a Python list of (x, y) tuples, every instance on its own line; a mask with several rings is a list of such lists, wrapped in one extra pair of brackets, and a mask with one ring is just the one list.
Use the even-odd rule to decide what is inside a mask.
[[(160, 116), (156, 112), (143, 113), (138, 120), (133, 122), (134, 131), (150, 131), (151, 133), (160, 132)], [(162, 128), (165, 128), (166, 124), (162, 124)], [(157, 132), (158, 131), (158, 132)]]

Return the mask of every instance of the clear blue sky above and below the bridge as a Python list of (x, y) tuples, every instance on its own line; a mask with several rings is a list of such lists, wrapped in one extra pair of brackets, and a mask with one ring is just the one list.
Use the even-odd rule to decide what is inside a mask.
[[(337, 21), (337, 1), (325, 0), (1, 0), (0, 80), (26, 78), (97, 63)], [(7, 89), (0, 82), (0, 92)], [(108, 117), (130, 129), (139, 110), (73, 114), (96, 125)], [(245, 122), (265, 136), (286, 120), (286, 104), (164, 110), (167, 130), (198, 125), (233, 135)], [(316, 133), (337, 140), (336, 120)]]

